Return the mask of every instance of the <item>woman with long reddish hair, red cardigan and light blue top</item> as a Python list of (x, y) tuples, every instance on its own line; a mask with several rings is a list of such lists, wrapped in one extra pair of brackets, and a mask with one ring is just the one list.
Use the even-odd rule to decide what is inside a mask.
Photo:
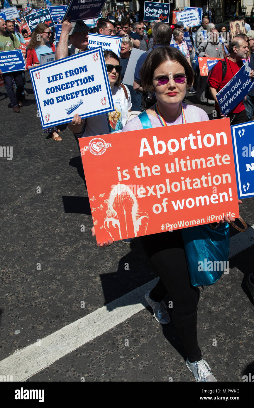
[[(40, 23), (35, 27), (31, 40), (27, 44), (27, 69), (39, 67), (41, 54), (55, 52), (55, 45), (49, 42), (50, 37), (51, 30), (47, 24)], [(57, 133), (59, 130), (55, 126), (43, 129), (43, 132), (52, 135), (52, 139), (56, 142), (61, 142), (62, 140), (62, 137)]]

